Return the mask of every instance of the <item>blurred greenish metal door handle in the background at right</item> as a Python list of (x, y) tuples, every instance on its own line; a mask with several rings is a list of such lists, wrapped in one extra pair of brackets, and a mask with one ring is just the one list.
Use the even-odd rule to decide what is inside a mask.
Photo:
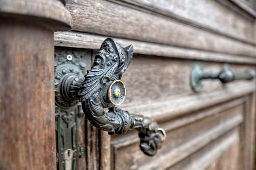
[(228, 83), (234, 80), (251, 80), (255, 77), (253, 70), (247, 70), (246, 72), (233, 72), (230, 70), (228, 64), (223, 65), (223, 69), (220, 73), (207, 73), (202, 70), (201, 64), (196, 63), (191, 69), (190, 73), (190, 85), (195, 92), (199, 92), (202, 88), (201, 81), (203, 79), (219, 79), (222, 83)]

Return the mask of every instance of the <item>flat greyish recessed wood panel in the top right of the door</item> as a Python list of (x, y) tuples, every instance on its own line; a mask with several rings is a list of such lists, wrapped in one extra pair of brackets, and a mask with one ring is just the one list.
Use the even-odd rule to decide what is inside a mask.
[[(200, 0), (200, 1), (167, 1), (167, 0), (109, 0), (120, 5), (147, 9), (162, 14), (180, 22), (206, 29), (234, 39), (252, 42), (255, 16), (251, 16), (237, 5), (227, 1)], [(230, 9), (228, 9), (228, 8)], [(140, 10), (138, 9), (138, 10)], [(236, 9), (234, 11), (233, 9)], [(255, 13), (255, 12), (254, 12)], [(225, 16), (225, 17), (223, 17)], [(249, 41), (248, 41), (249, 40)]]

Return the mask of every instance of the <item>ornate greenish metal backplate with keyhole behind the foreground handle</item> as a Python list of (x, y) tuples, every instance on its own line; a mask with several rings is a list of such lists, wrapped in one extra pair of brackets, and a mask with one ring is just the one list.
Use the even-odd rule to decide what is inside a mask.
[(55, 53), (55, 127), (57, 169), (77, 169), (84, 148), (78, 146), (77, 129), (83, 119), (81, 103), (76, 99), (83, 81), (86, 63), (82, 50), (61, 50)]

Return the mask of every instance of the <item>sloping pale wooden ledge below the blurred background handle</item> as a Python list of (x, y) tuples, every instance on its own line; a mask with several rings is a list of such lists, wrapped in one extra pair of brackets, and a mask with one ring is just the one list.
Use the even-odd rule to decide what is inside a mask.
[(184, 116), (188, 113), (221, 104), (234, 98), (248, 95), (254, 91), (251, 85), (241, 85), (228, 90), (215, 90), (210, 93), (173, 96), (152, 101), (138, 101), (122, 106), (132, 114), (142, 114), (158, 122)]

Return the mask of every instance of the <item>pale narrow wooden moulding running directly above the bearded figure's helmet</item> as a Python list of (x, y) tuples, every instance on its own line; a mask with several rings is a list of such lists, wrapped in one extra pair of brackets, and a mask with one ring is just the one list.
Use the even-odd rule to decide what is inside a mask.
[[(62, 47), (74, 47), (74, 48), (88, 48), (97, 49), (100, 48), (101, 43), (109, 36), (94, 35), (81, 32), (55, 32), (54, 44)], [(229, 62), (229, 63), (244, 63), (255, 64), (256, 59), (254, 57), (230, 55), (225, 53), (215, 53), (205, 50), (197, 50), (192, 48), (182, 48), (171, 45), (162, 45), (156, 43), (148, 43), (144, 41), (135, 41), (125, 38), (113, 37), (114, 40), (120, 43), (122, 46), (128, 46), (133, 44), (134, 53), (164, 56), (179, 59), (191, 59), (191, 60), (203, 60), (203, 61), (215, 61), (215, 62)], [(256, 40), (256, 38), (255, 38)]]

